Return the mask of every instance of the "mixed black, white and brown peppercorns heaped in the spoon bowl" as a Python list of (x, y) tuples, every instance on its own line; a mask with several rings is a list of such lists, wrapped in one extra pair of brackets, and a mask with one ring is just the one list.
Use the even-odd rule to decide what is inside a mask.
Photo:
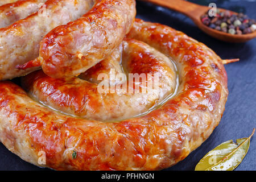
[(208, 12), (201, 16), (201, 21), (208, 27), (229, 34), (250, 34), (256, 30), (254, 19), (242, 13), (232, 14), (230, 11), (217, 9), (216, 16), (209, 16)]

